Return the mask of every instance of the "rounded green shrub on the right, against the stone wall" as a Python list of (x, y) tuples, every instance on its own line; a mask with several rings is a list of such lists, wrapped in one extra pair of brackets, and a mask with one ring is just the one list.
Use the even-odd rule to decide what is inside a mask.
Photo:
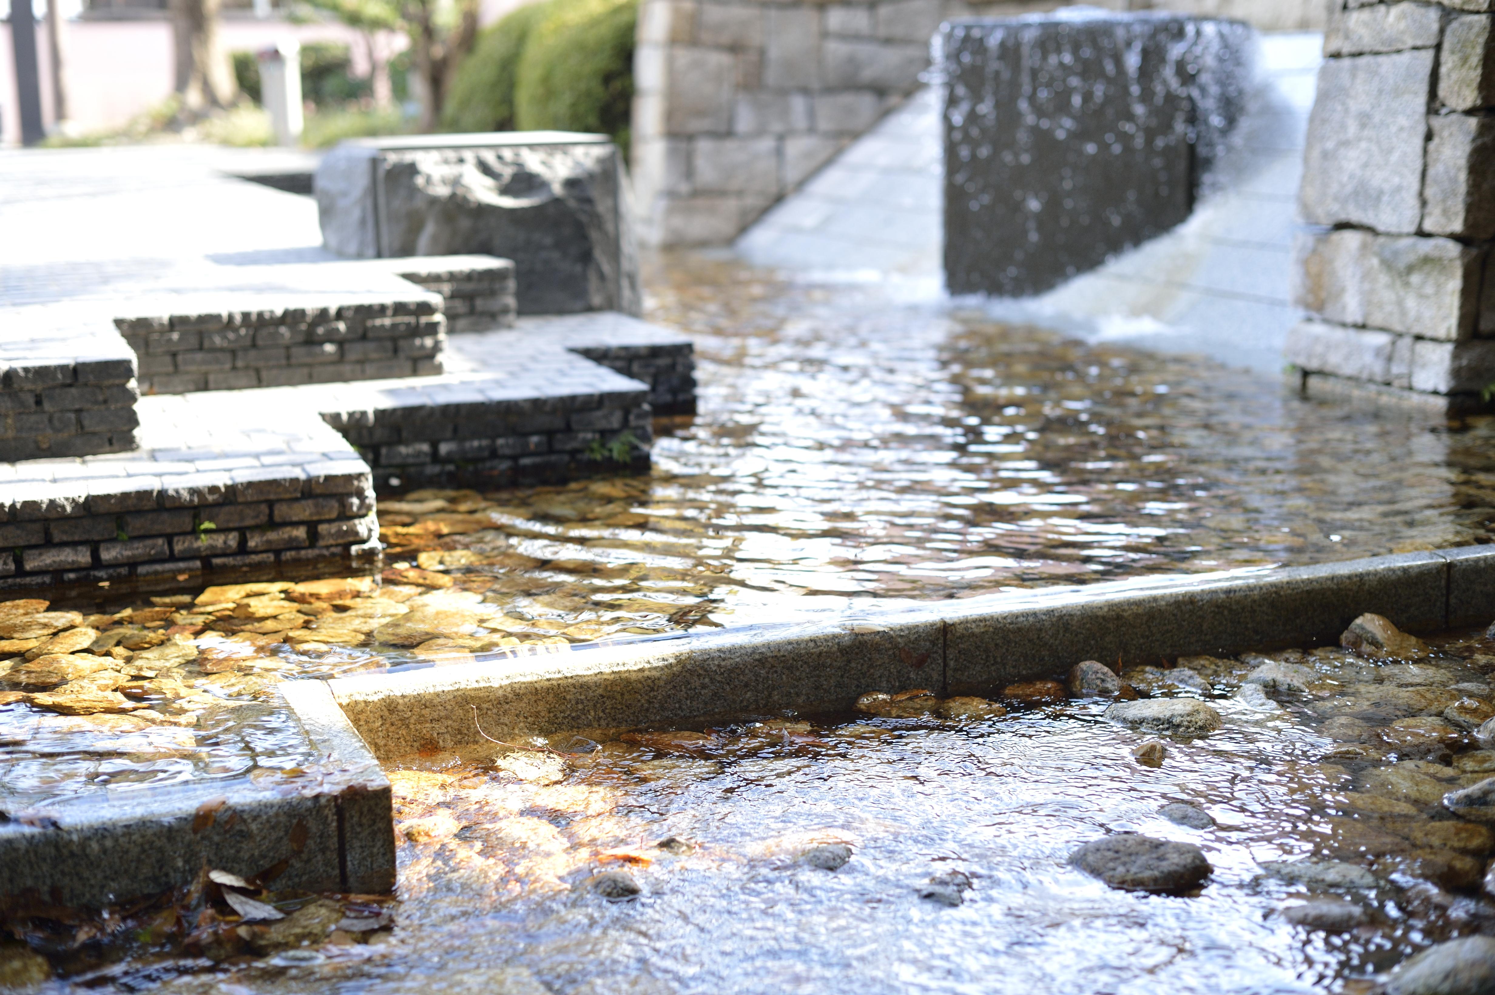
[(514, 79), (514, 125), (610, 134), (626, 158), (637, 0), (556, 0)]

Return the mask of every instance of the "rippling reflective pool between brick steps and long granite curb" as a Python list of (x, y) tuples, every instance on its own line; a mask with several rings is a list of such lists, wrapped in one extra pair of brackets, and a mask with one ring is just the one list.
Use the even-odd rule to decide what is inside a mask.
[(652, 291), (701, 391), (650, 477), (495, 495), (502, 536), (386, 538), (540, 560), (487, 598), (573, 639), (1491, 539), (1491, 418), (730, 261), (673, 258)]

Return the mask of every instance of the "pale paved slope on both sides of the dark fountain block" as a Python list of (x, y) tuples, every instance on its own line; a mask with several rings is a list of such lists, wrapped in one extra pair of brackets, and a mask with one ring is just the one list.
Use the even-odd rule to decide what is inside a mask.
[[(1233, 151), (1193, 217), (1055, 290), (984, 302), (996, 317), (1091, 339), (1283, 366), (1302, 143), (1322, 36), (1262, 36), (1260, 84)], [(942, 287), (942, 157), (924, 90), (749, 229), (737, 251), (807, 276), (884, 279), (928, 299)]]

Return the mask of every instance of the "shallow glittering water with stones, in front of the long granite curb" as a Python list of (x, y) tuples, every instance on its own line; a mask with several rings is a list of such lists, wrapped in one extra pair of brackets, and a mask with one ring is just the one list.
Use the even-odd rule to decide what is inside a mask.
[[(1470, 734), (1495, 714), (1495, 644), (1438, 644), (1127, 671), (1223, 720), (1150, 763), (1109, 702), (1021, 695), (973, 720), (728, 716), (408, 757), (390, 769), (393, 932), (157, 970), (190, 971), (163, 986), (182, 994), (1368, 992), (1416, 950), (1495, 928), (1495, 835), (1441, 804), (1495, 774)], [(1302, 684), (1251, 693), (1272, 660)], [(1175, 802), (1212, 825), (1165, 819)], [(1115, 832), (1195, 844), (1212, 871), (1144, 895), (1069, 865)], [(849, 859), (807, 861), (827, 844)], [(1305, 867), (1340, 880), (1302, 883)], [(951, 880), (969, 883), (958, 901), (931, 896)], [(1356, 922), (1295, 925), (1305, 901)]]

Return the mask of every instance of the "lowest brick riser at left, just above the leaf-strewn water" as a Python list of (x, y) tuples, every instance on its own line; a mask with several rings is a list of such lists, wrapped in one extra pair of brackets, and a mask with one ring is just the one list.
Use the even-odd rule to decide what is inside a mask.
[(0, 589), (339, 569), (377, 533), (357, 460), (12, 484), (0, 497)]

